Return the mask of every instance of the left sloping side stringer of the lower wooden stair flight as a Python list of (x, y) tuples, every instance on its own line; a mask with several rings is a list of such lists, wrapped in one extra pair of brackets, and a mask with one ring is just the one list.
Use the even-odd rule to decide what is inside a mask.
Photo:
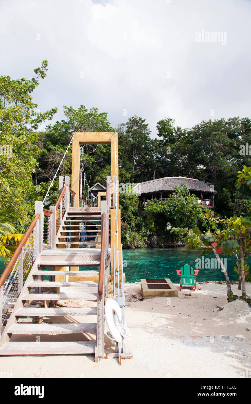
[(37, 261), (39, 259), (40, 259), (40, 254), (35, 259), (35, 262), (33, 263), (32, 267), (31, 267), (31, 270), (29, 272), (29, 275), (27, 276), (25, 284), (24, 284), (24, 286), (23, 286), (23, 288), (21, 290), (21, 293), (20, 293), (20, 295), (19, 295), (19, 297), (18, 297), (18, 299), (17, 299), (17, 301), (15, 303), (14, 308), (12, 309), (12, 313), (10, 315), (10, 318), (8, 319), (8, 322), (7, 322), (7, 324), (6, 324), (5, 328), (4, 328), (4, 332), (2, 333), (2, 337), (0, 338), (0, 348), (6, 342), (10, 341), (11, 334), (8, 333), (8, 329), (10, 328), (10, 326), (17, 323), (18, 318), (16, 317), (15, 313), (17, 312), (17, 310), (21, 309), (25, 304), (26, 300), (23, 301), (22, 298), (23, 298), (24, 295), (29, 294), (29, 289), (28, 289), (27, 284), (30, 281), (33, 281), (33, 272), (38, 269)]

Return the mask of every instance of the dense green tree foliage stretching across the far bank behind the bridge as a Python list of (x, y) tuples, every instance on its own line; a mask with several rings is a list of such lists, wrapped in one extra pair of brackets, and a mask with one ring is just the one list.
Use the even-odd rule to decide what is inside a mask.
[[(29, 80), (0, 77), (1, 145), (12, 147), (11, 156), (1, 149), (0, 208), (12, 205), (20, 212), (28, 213), (23, 227), (16, 223), (21, 233), (32, 219), (34, 201), (42, 200), (46, 194), (74, 131), (118, 131), (120, 183), (183, 176), (204, 180), (218, 191), (214, 213), (198, 206), (195, 196), (189, 196), (185, 186), (176, 189), (169, 200), (148, 201), (145, 210), (139, 208), (137, 196), (120, 194), (121, 219), (126, 224), (122, 240), (126, 246), (145, 246), (147, 240), (155, 236), (164, 240), (166, 223), (214, 231), (207, 223), (205, 213), (222, 217), (251, 216), (251, 177), (248, 177), (250, 172), (245, 172), (251, 166), (249, 118), (202, 121), (192, 128), (175, 126), (173, 119), (163, 118), (157, 122), (157, 137), (153, 138), (145, 118), (132, 116), (126, 123), (113, 128), (106, 112), (99, 112), (95, 107), (88, 110), (80, 105), (77, 109), (64, 106), (63, 120), (39, 130), (39, 124), (52, 119), (56, 113), (56, 108), (41, 113), (32, 102), (31, 93), (39, 84), (39, 78), (46, 77), (46, 71), (47, 61), (43, 61)], [(81, 147), (82, 197), (87, 195), (84, 181), (90, 186), (97, 181), (105, 184), (106, 175), (110, 174), (110, 152), (109, 145)], [(238, 171), (240, 186), (236, 188)], [(58, 175), (71, 177), (71, 147)], [(248, 186), (241, 187), (245, 183)], [(54, 204), (57, 197), (56, 180), (45, 207)], [(168, 237), (174, 243), (184, 239), (182, 234), (169, 234)]]

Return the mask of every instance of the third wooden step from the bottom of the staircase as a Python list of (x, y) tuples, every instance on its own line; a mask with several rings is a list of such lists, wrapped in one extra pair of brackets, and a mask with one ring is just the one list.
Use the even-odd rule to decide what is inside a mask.
[(15, 316), (96, 316), (97, 307), (22, 307)]

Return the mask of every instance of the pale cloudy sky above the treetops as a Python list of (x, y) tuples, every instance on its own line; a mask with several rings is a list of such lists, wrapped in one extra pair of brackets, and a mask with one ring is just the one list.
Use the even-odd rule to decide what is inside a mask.
[[(80, 104), (113, 126), (142, 116), (250, 117), (250, 0), (0, 0), (0, 74), (30, 78), (41, 111)], [(214, 32), (220, 34), (214, 35)]]

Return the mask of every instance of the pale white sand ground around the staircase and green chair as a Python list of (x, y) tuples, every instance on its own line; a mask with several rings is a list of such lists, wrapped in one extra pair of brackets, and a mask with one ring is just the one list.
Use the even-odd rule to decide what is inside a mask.
[[(197, 288), (201, 290), (185, 288), (170, 300), (139, 301), (130, 294), (141, 297), (140, 284), (125, 284), (126, 321), (133, 335), (126, 345), (134, 358), (122, 360), (122, 366), (111, 358), (95, 363), (93, 355), (2, 356), (0, 371), (13, 377), (251, 376), (251, 309), (243, 301), (227, 303), (226, 285), (211, 282)], [(232, 290), (241, 294), (237, 284)], [(217, 311), (216, 305), (224, 309)], [(106, 351), (113, 349), (106, 338)]]

